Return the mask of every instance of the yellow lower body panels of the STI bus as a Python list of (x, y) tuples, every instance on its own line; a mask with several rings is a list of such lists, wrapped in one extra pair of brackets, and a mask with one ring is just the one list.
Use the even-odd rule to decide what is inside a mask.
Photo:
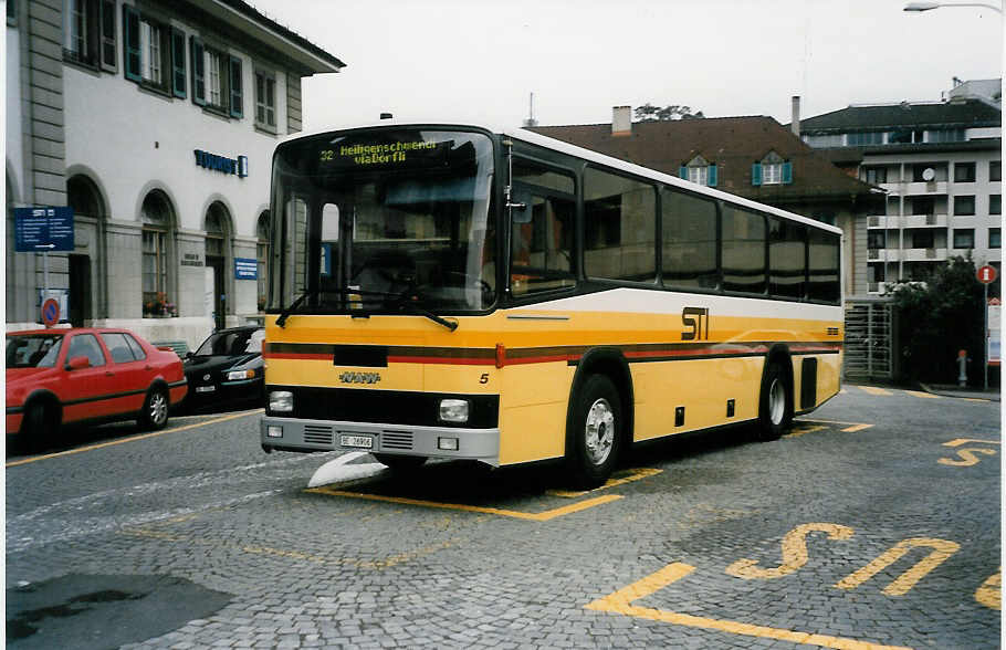
[[(683, 358), (675, 358), (677, 348), (684, 343), (695, 345), (681, 340), (680, 313), (509, 310), (457, 321), (458, 329), (450, 332), (411, 315), (294, 315), (285, 328), (276, 327), (271, 317), (266, 324), (270, 344), (389, 346), (391, 350), (408, 349), (409, 359), (396, 360), (396, 353), (389, 352), (387, 367), (360, 368), (336, 366), (331, 356), (266, 355), (266, 384), (500, 395), (500, 464), (564, 455), (577, 364), (597, 347), (619, 348), (628, 361), (633, 441), (756, 419), (766, 353), (775, 342), (793, 354), (795, 410), (808, 410), (800, 403), (801, 359), (817, 359), (813, 407), (840, 388), (841, 355), (835, 354), (842, 340), (840, 321), (717, 316), (713, 311), (695, 354), (703, 358), (691, 358), (687, 352), (680, 353)], [(800, 344), (809, 346), (808, 350), (801, 352)], [(834, 352), (810, 353), (814, 345), (821, 344), (831, 345)], [(495, 361), (497, 345), (505, 350), (502, 368)], [(647, 352), (654, 346), (663, 353)], [(481, 350), (481, 357), (460, 354), (472, 349)], [(437, 352), (423, 359), (422, 350)], [(457, 359), (451, 358), (451, 350), (458, 350)], [(413, 360), (417, 358), (420, 360)], [(361, 371), (377, 373), (379, 381), (349, 385), (343, 380), (344, 374)], [(727, 400), (734, 402), (732, 417), (727, 417)], [(685, 408), (681, 426), (675, 426), (678, 407)]]

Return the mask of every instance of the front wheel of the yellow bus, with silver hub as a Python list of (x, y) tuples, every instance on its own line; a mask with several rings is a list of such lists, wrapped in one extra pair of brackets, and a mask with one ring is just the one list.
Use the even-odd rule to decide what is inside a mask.
[(573, 400), (569, 478), (579, 488), (596, 488), (611, 475), (621, 451), (621, 396), (607, 376), (591, 375)]

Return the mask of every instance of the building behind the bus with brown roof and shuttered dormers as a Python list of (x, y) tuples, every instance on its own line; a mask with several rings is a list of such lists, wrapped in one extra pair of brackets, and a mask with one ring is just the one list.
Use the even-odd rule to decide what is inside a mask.
[(528, 128), (838, 226), (843, 232), (843, 292), (866, 292), (866, 264), (856, 260), (866, 261), (867, 216), (882, 209), (882, 193), (845, 174), (771, 117), (632, 123), (630, 107), (620, 106), (610, 125)]

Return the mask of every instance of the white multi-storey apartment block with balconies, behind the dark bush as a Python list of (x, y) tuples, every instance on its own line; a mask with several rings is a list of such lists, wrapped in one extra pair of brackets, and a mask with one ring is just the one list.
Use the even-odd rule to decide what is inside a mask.
[(924, 281), (956, 255), (1000, 266), (999, 87), (958, 83), (942, 102), (849, 106), (799, 122), (804, 141), (887, 193), (868, 218), (869, 294)]

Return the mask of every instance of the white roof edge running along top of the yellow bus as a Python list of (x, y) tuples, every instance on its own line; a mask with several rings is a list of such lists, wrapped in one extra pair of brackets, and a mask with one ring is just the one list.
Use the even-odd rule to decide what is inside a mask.
[(618, 169), (618, 170), (625, 171), (627, 174), (633, 174), (636, 176), (643, 176), (651, 180), (662, 182), (663, 185), (679, 187), (679, 188), (687, 189), (692, 192), (705, 195), (710, 198), (729, 201), (736, 206), (742, 206), (745, 208), (751, 208), (752, 210), (758, 210), (761, 212), (766, 212), (768, 214), (775, 214), (777, 217), (792, 219), (793, 221), (805, 223), (807, 226), (811, 226), (814, 228), (819, 228), (821, 230), (827, 230), (827, 231), (834, 232), (836, 234), (842, 234), (842, 230), (840, 228), (830, 226), (828, 223), (818, 221), (816, 219), (811, 219), (809, 217), (804, 217), (803, 214), (789, 212), (788, 210), (783, 210), (782, 208), (776, 208), (775, 206), (759, 203), (757, 201), (753, 201), (751, 199), (745, 199), (744, 197), (740, 197), (737, 195), (732, 195), (732, 193), (725, 192), (723, 190), (717, 190), (717, 189), (705, 187), (702, 185), (696, 185), (694, 182), (690, 182), (682, 178), (678, 178), (677, 176), (671, 176), (669, 174), (664, 174), (662, 171), (658, 171), (658, 170), (651, 169), (649, 167), (642, 167), (641, 165), (636, 165), (635, 162), (629, 162), (627, 160), (614, 158), (611, 156), (608, 156), (606, 154), (600, 154), (600, 153), (594, 151), (591, 149), (585, 149), (583, 147), (572, 145), (564, 140), (551, 138), (548, 136), (544, 136), (542, 134), (526, 130), (523, 128), (501, 127), (500, 125), (476, 124), (476, 123), (472, 123), (472, 122), (436, 122), (436, 123), (433, 123), (433, 122), (413, 122), (413, 120), (407, 122), (407, 120), (398, 120), (398, 119), (381, 119), (380, 122), (375, 122), (371, 124), (361, 124), (358, 126), (346, 126), (346, 127), (342, 127), (342, 128), (317, 129), (317, 130), (312, 130), (310, 133), (300, 133), (300, 134), (292, 135), (292, 136), (284, 138), (281, 141), (281, 144), (285, 144), (287, 141), (296, 140), (296, 139), (301, 139), (301, 138), (317, 137), (319, 135), (324, 135), (327, 133), (337, 133), (337, 132), (343, 132), (343, 130), (357, 130), (357, 129), (367, 129), (367, 128), (416, 128), (416, 127), (440, 128), (440, 129), (451, 129), (451, 128), (461, 127), (461, 128), (479, 129), (479, 130), (485, 130), (485, 132), (499, 134), (499, 135), (507, 137), (507, 138), (527, 143), (530, 145), (536, 145), (539, 147), (544, 147), (546, 149), (552, 149), (555, 151), (559, 151), (562, 154), (566, 154), (568, 156), (573, 156), (576, 158), (583, 158), (590, 162), (597, 162), (598, 165), (604, 165), (606, 167), (610, 167), (612, 169)]

